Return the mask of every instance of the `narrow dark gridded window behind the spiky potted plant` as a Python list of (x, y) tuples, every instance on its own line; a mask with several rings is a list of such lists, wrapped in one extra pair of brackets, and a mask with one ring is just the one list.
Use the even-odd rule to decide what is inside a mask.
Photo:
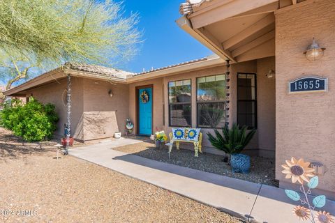
[(257, 128), (256, 75), (237, 74), (237, 123), (248, 129)]

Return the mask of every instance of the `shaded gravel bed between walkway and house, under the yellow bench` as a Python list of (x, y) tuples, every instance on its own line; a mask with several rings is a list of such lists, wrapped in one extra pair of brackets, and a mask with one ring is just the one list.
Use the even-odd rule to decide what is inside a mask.
[(113, 148), (117, 151), (132, 153), (151, 160), (160, 162), (168, 162), (182, 167), (189, 167), (214, 174), (248, 180), (254, 183), (263, 183), (278, 187), (278, 180), (275, 180), (275, 161), (274, 158), (251, 157), (251, 170), (249, 174), (232, 173), (227, 163), (223, 162), (223, 156), (213, 155), (210, 153), (199, 154), (199, 157), (194, 157), (194, 151), (180, 149), (177, 151), (172, 148), (171, 157), (168, 156), (168, 147), (164, 149), (155, 148), (151, 141), (144, 141), (139, 144), (121, 146)]

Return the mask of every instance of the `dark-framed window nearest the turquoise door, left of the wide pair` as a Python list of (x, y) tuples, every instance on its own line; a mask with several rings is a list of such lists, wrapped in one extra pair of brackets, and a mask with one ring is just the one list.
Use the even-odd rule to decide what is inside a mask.
[(191, 127), (191, 79), (168, 83), (169, 125)]

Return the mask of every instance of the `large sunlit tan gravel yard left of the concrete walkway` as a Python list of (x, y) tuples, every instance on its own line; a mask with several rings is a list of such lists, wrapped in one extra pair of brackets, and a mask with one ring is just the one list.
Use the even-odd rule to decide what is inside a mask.
[(0, 128), (0, 222), (241, 222), (96, 164), (56, 160), (54, 144)]

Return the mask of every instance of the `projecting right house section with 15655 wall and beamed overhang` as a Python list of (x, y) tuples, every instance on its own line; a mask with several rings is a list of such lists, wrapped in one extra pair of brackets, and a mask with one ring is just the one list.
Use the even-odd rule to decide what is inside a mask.
[[(281, 164), (292, 156), (304, 157), (324, 167), (320, 189), (335, 199), (335, 1), (188, 0), (179, 12), (181, 29), (230, 63), (256, 59), (275, 64), (274, 85), (269, 85), (268, 79), (260, 80), (269, 67), (258, 63), (258, 95), (271, 92), (263, 95), (265, 101), (258, 97), (258, 139), (274, 127), (274, 139), (269, 141), (274, 140), (280, 187), (290, 187)], [(308, 58), (304, 52), (312, 38), (320, 48), (311, 50)], [(310, 91), (316, 90), (313, 82), (291, 91), (291, 84), (307, 83), (315, 76), (325, 80), (323, 91)], [(274, 107), (266, 101), (274, 102)], [(274, 116), (260, 122), (264, 114)], [(268, 121), (273, 117), (271, 125)], [(262, 148), (265, 141), (258, 143)]]

